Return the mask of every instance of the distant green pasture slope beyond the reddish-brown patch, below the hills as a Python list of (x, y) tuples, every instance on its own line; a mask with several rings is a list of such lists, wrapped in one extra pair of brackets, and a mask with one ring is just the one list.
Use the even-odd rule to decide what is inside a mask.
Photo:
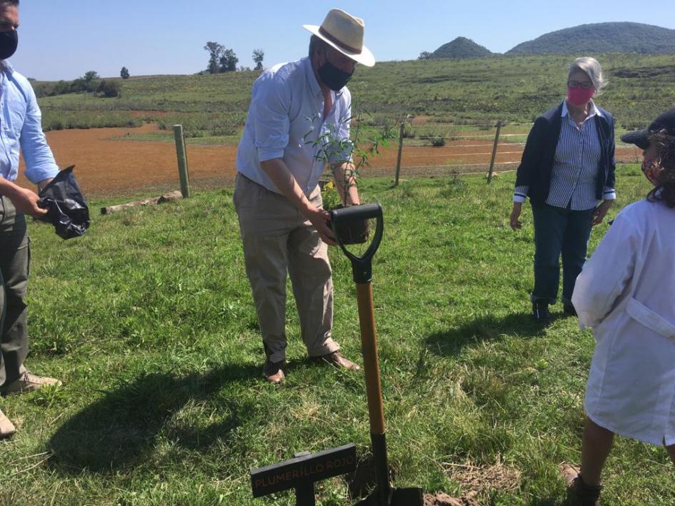
[[(594, 56), (610, 81), (597, 102), (616, 115), (620, 128), (645, 126), (675, 103), (675, 55)], [(394, 123), (408, 114), (458, 125), (527, 123), (564, 96), (566, 71), (574, 57), (386, 61), (372, 69), (359, 66), (349, 88), (354, 112), (368, 111), (375, 125)], [(139, 121), (131, 111), (144, 111), (147, 121), (188, 123), (189, 136), (230, 135), (244, 124), (251, 84), (258, 74), (139, 77), (119, 80), (119, 98), (76, 93), (39, 102), (47, 129), (89, 128), (106, 122), (127, 126)], [(40, 86), (36, 84), (38, 91)], [(164, 117), (167, 113), (171, 118)]]

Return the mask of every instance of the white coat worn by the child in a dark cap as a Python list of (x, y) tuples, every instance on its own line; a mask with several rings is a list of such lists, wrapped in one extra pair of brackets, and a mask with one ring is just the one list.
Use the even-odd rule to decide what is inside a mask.
[(584, 265), (572, 303), (596, 338), (586, 414), (616, 434), (675, 444), (675, 209), (626, 206)]

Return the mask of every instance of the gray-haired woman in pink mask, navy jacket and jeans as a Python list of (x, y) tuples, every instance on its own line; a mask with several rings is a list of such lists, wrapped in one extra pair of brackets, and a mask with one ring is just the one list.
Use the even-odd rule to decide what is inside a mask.
[(606, 86), (596, 59), (578, 58), (569, 69), (567, 96), (534, 121), (518, 167), (511, 228), (521, 228), (527, 196), (534, 217), (532, 314), (551, 320), (563, 263), (564, 313), (586, 260), (591, 227), (602, 222), (614, 193), (614, 117), (593, 97)]

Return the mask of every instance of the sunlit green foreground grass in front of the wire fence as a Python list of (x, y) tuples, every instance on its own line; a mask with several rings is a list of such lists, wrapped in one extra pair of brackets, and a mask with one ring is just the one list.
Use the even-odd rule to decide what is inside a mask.
[[(617, 179), (621, 206), (648, 190), (637, 166)], [(386, 219), (374, 300), (389, 457), (398, 486), (558, 505), (594, 343), (561, 308), (549, 328), (531, 321), (531, 215), (511, 231), (513, 184), (362, 185)], [(264, 383), (231, 188), (94, 213), (73, 241), (38, 224), (31, 236), (29, 365), (64, 386), (0, 398), (19, 427), (0, 442), (0, 504), (292, 505), (252, 500), (249, 469), (347, 442), (369, 455), (364, 377), (306, 360), (292, 298), (288, 380)], [(360, 361), (351, 266), (331, 258), (334, 335)], [(675, 502), (661, 448), (619, 438), (605, 482), (605, 504)], [(317, 490), (321, 505), (349, 504), (342, 479)]]

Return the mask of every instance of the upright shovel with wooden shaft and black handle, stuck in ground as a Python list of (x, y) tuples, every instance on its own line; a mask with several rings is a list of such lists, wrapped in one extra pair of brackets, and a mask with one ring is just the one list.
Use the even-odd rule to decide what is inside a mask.
[[(359, 257), (344, 247), (338, 233), (339, 226), (350, 221), (358, 222), (369, 218), (376, 218), (375, 234), (366, 253)], [(379, 204), (366, 204), (336, 209), (331, 211), (331, 228), (340, 248), (351, 260), (354, 283), (356, 283), (356, 298), (359, 303), (359, 323), (361, 325), (361, 353), (364, 355), (370, 438), (375, 464), (376, 488), (371, 495), (356, 503), (356, 506), (423, 506), (421, 488), (393, 488), (389, 483), (389, 464), (386, 459), (386, 439), (384, 435), (384, 411), (382, 409), (382, 386), (377, 360), (377, 338), (371, 287), (372, 259), (382, 240), (384, 228), (382, 208)]]

